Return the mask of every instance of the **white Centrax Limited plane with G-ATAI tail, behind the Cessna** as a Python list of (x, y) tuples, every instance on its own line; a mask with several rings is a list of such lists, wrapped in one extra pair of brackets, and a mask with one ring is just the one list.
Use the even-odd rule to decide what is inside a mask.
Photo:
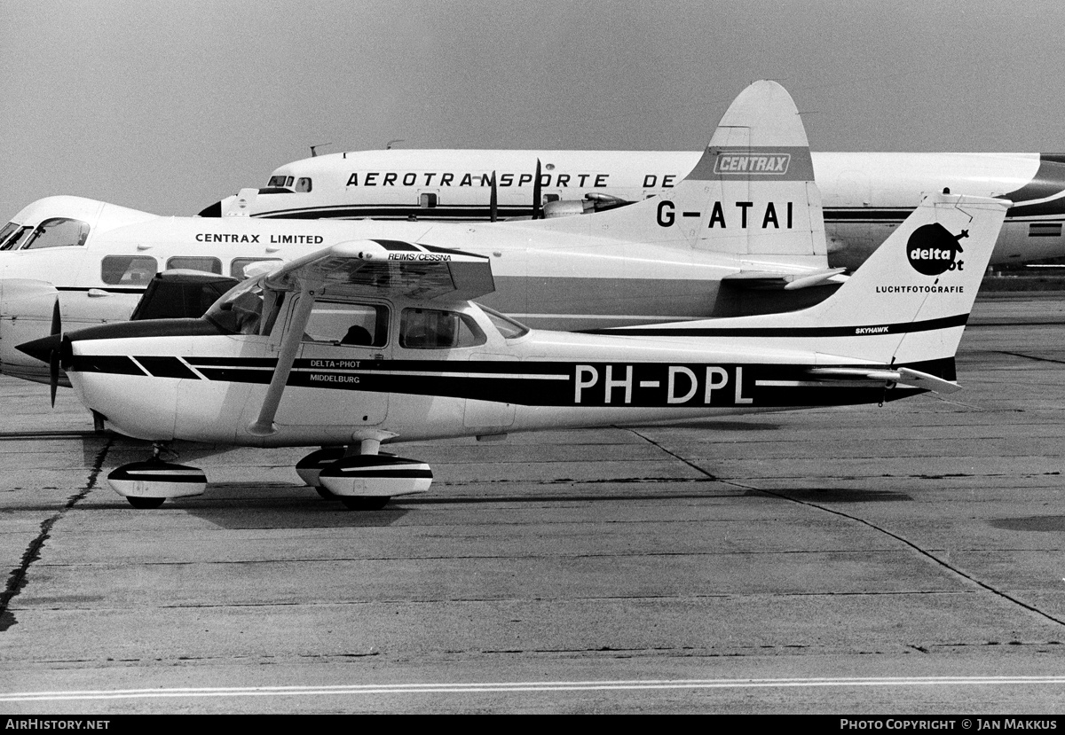
[[(731, 316), (824, 298), (842, 269), (828, 267), (821, 210), (807, 206), (819, 195), (787, 91), (773, 82), (751, 85), (710, 145), (746, 151), (715, 160), (717, 170), (697, 169), (715, 186), (674, 187), (653, 204), (589, 217), (464, 223), (155, 217), (84, 199), (40, 200), (0, 231), (0, 369), (48, 381), (49, 370), (16, 345), (63, 327), (128, 318), (164, 268), (243, 277), (253, 262), (290, 261), (357, 239), (489, 256), (496, 288), (487, 305), (534, 327)], [(425, 260), (413, 251), (410, 257)]]

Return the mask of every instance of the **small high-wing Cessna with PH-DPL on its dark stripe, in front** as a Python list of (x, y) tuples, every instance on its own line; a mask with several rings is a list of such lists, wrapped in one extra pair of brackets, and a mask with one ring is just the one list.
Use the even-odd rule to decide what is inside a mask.
[[(714, 172), (750, 150), (708, 148), (674, 197), (725, 198), (732, 182)], [(653, 218), (663, 201), (627, 208)], [(240, 284), (200, 319), (103, 324), (59, 351), (88, 408), (157, 445), (109, 474), (135, 507), (206, 490), (201, 470), (159, 456), (187, 439), (321, 446), (297, 465), (305, 482), (379, 508), (432, 480), (425, 463), (381, 453), (388, 442), (956, 390), (954, 353), (1007, 204), (930, 195), (835, 294), (788, 314), (531, 331), (470, 301), (492, 289), (491, 258), (356, 240)]]

